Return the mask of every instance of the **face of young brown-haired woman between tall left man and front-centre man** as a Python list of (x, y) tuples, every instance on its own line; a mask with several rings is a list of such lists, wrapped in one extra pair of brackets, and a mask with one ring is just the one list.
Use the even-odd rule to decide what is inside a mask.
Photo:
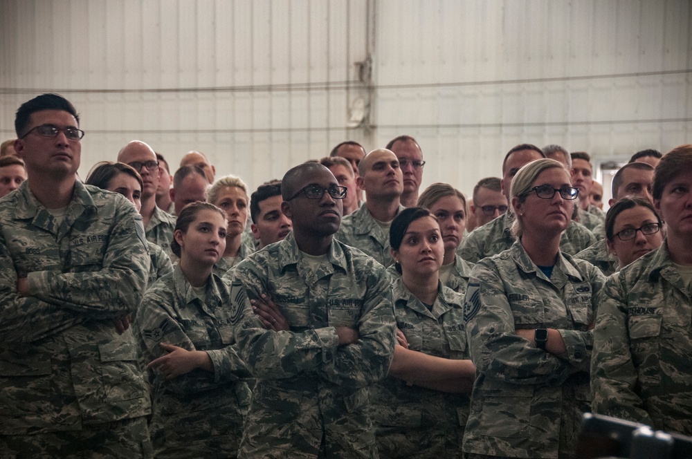
[(226, 221), (221, 214), (212, 209), (197, 212), (188, 231), (176, 229), (173, 234), (180, 245), (181, 263), (183, 259), (195, 265), (213, 266), (226, 250)]

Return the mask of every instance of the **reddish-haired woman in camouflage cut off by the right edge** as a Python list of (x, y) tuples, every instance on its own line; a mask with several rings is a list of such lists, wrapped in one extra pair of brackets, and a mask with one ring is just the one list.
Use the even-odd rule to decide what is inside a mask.
[[(652, 195), (666, 236), (605, 283), (594, 329), (593, 409), (692, 435), (692, 145), (663, 156)], [(653, 223), (630, 230), (641, 238)]]

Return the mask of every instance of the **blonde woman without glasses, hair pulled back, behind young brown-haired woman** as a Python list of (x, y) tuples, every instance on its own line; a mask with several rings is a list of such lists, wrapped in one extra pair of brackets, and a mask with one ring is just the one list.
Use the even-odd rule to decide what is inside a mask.
[(214, 273), (224, 276), (239, 261), (255, 252), (255, 247), (246, 235), (248, 223), (248, 187), (235, 176), (219, 178), (207, 193), (207, 201), (226, 212), (228, 229), (224, 256), (214, 265)]

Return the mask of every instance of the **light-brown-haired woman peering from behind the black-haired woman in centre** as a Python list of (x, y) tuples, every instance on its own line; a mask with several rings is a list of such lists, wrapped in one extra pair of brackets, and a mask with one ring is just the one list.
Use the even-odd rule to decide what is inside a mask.
[(444, 244), (444, 259), (439, 270), (439, 280), (455, 292), (466, 293), (472, 263), (466, 263), (457, 255), (457, 248), (464, 239), (466, 227), (466, 198), (461, 191), (447, 183), (433, 183), (418, 198), (424, 207), (437, 218)]

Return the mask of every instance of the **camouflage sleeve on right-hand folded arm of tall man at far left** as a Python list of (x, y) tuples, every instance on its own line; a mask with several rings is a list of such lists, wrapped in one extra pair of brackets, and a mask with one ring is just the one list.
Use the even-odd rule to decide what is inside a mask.
[(98, 254), (100, 269), (30, 272), (33, 297), (93, 319), (118, 317), (136, 308), (147, 288), (149, 252), (136, 209), (119, 201), (115, 209), (106, 252)]

